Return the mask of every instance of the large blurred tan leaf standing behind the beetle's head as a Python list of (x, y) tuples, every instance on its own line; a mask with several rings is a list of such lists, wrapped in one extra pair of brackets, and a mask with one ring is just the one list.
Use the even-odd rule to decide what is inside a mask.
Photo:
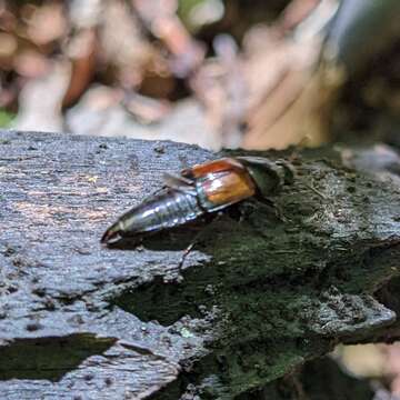
[[(300, 6), (304, 4), (297, 4)], [(326, 140), (323, 117), (340, 77), (330, 80), (323, 68), (316, 72), (323, 40), (318, 31), (321, 23), (332, 18), (336, 7), (331, 0), (319, 2), (314, 11), (321, 17), (319, 24), (314, 23), (316, 14), (310, 16), (309, 26), (304, 28), (303, 22), (293, 37), (281, 34), (279, 23), (283, 22), (271, 28), (257, 27), (248, 33), (244, 74), (249, 110), (243, 148), (284, 149), (304, 142), (306, 138), (308, 144)]]

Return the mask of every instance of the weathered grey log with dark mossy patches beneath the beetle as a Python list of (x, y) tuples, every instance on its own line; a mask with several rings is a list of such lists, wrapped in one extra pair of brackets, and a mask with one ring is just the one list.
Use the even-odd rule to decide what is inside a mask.
[(296, 169), (271, 199), (280, 212), (246, 201), (202, 223), (180, 269), (198, 230), (122, 250), (99, 238), (163, 171), (216, 154), (0, 132), (2, 398), (233, 399), (338, 342), (399, 337), (396, 313), (374, 298), (389, 304), (399, 274), (397, 154), (261, 154)]

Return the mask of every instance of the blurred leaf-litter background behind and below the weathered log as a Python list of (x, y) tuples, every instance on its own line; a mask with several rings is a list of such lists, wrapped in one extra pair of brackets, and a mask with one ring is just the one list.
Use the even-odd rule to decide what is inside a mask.
[[(0, 0), (0, 127), (399, 147), (399, 0)], [(400, 396), (400, 346), (332, 358)]]

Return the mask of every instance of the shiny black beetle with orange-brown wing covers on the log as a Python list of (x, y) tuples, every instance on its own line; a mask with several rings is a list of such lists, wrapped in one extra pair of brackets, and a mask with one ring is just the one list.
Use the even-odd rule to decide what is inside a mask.
[(268, 199), (293, 178), (284, 161), (261, 157), (222, 158), (166, 174), (164, 187), (122, 214), (101, 238), (112, 244), (182, 226), (250, 197)]

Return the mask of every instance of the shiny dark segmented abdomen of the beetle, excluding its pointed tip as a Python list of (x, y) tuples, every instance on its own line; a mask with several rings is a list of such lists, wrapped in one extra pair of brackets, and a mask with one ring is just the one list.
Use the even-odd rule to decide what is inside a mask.
[(203, 213), (197, 196), (169, 189), (123, 214), (120, 228), (126, 234), (134, 236), (173, 228)]

